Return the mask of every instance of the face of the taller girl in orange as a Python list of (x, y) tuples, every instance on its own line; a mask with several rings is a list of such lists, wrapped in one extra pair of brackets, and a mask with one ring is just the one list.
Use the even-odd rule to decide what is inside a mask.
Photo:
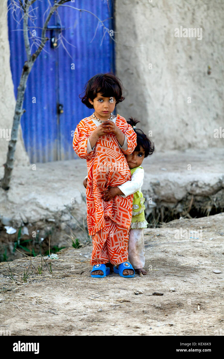
[(104, 97), (100, 92), (93, 101), (89, 98), (89, 102), (93, 105), (95, 110), (95, 116), (105, 120), (108, 119), (108, 115), (114, 111), (116, 100), (115, 97)]

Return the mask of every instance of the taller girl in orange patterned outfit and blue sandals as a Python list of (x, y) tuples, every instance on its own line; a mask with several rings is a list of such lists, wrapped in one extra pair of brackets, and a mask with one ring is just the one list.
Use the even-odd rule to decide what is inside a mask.
[(134, 270), (128, 259), (128, 235), (132, 220), (133, 195), (102, 199), (109, 186), (117, 187), (131, 180), (125, 154), (136, 148), (136, 133), (124, 117), (113, 116), (115, 104), (122, 102), (122, 85), (113, 74), (98, 74), (86, 84), (82, 103), (93, 108), (83, 118), (73, 137), (74, 151), (87, 161), (87, 225), (92, 236), (91, 276), (109, 274), (108, 262), (116, 265), (120, 276), (131, 278)]

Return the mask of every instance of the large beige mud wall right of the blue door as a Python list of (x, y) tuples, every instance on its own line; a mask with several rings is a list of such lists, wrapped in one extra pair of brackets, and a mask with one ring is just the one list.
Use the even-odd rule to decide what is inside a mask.
[[(151, 130), (156, 150), (224, 146), (224, 133), (214, 138), (224, 129), (223, 24), (221, 0), (115, 0), (116, 73), (126, 90), (117, 111)], [(180, 26), (202, 28), (202, 39), (174, 37)]]

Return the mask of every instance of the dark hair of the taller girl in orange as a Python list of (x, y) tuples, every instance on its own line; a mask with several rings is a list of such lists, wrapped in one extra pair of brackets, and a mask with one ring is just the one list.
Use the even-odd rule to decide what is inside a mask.
[(124, 101), (122, 96), (123, 85), (122, 82), (112, 73), (97, 74), (93, 76), (84, 87), (84, 96), (79, 95), (82, 103), (88, 108), (93, 108), (89, 102), (89, 98), (93, 101), (100, 92), (104, 97), (115, 97), (116, 104)]

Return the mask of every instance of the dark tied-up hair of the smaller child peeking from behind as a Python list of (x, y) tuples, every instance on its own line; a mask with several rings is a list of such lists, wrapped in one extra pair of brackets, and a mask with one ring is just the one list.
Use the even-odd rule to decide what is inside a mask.
[(136, 118), (128, 118), (129, 125), (133, 127), (134, 132), (137, 134), (137, 146), (134, 149), (135, 151), (140, 151), (140, 146), (145, 150), (144, 158), (153, 154), (155, 150), (154, 143), (150, 141), (150, 139), (144, 134), (144, 132), (140, 129), (136, 129), (136, 124), (140, 121), (136, 120)]

